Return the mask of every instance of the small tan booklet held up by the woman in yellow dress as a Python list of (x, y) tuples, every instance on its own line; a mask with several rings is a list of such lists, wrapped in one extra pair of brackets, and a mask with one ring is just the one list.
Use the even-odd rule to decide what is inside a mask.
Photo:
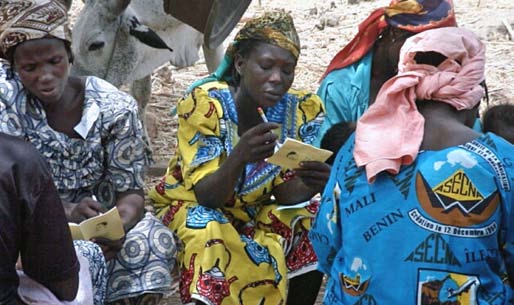
[(286, 138), (284, 143), (277, 144), (275, 153), (266, 161), (283, 168), (298, 168), (302, 161), (325, 162), (332, 152), (330, 150), (314, 147), (292, 138)]

